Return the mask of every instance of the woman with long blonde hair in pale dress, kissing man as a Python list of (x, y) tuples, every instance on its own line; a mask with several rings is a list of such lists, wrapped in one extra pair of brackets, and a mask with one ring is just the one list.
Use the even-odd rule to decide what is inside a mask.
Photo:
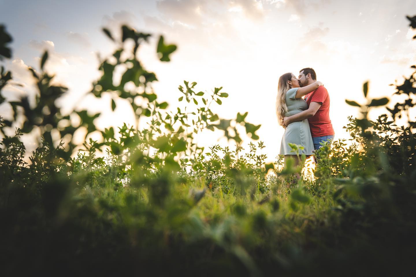
[[(278, 122), (282, 122), (285, 116), (295, 115), (303, 110), (307, 110), (308, 106), (302, 97), (314, 91), (319, 86), (322, 86), (322, 83), (317, 81), (301, 88), (294, 74), (286, 73), (280, 76), (276, 97)], [(314, 146), (307, 119), (292, 122), (287, 125), (283, 134), (282, 144), (280, 145), (280, 154), (285, 155), (285, 167), (287, 166), (287, 159), (293, 159), (295, 166), (298, 166), (300, 159), (297, 153), (288, 145), (289, 143), (304, 147), (299, 154), (305, 154), (307, 157), (313, 154)]]

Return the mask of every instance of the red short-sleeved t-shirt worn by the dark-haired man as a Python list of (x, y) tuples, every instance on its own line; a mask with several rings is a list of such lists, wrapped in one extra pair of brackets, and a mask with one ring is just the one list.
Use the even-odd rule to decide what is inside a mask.
[(304, 99), (308, 104), (308, 108), (311, 102), (322, 103), (315, 115), (308, 118), (312, 137), (335, 135), (331, 120), (329, 119), (329, 94), (327, 89), (319, 86), (316, 90), (308, 93)]

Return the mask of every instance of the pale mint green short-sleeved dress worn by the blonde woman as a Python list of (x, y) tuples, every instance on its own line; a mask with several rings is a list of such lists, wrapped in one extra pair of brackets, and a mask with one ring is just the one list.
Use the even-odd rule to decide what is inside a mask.
[[(295, 99), (296, 91), (299, 88), (291, 88), (286, 92), (286, 105), (287, 112), (285, 116), (295, 115), (307, 110), (308, 105), (302, 98)], [(300, 154), (312, 155), (314, 150), (311, 130), (309, 128), (309, 122), (307, 119), (301, 121), (295, 121), (287, 125), (285, 133), (282, 137), (282, 144), (280, 145), (281, 155), (296, 155), (296, 152), (290, 148), (289, 143), (296, 145), (302, 145), (305, 147), (304, 150), (300, 151)]]

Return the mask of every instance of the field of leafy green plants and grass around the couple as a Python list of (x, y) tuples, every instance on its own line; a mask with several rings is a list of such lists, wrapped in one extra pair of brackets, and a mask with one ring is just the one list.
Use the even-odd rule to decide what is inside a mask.
[[(416, 16), (408, 19), (416, 29)], [(260, 125), (246, 122), (247, 113), (213, 113), (228, 96), (222, 88), (207, 94), (184, 81), (178, 101), (187, 109), (167, 111), (151, 87), (156, 74), (137, 59), (151, 34), (128, 26), (120, 38), (103, 31), (119, 49), (101, 61), (102, 77), (89, 94), (111, 92), (113, 110), (114, 99), (129, 101), (136, 126), (97, 130), (99, 114), (62, 114), (55, 102), (67, 88), (44, 70), (47, 52), (40, 70), (30, 69), (35, 99), (0, 94), (0, 104), (13, 110), (0, 122), (2, 276), (415, 274), (416, 122), (409, 110), (416, 72), (394, 85), (401, 101), (377, 120), (369, 110), (389, 99), (367, 98), (364, 83), (367, 102), (347, 100), (360, 110), (344, 127), (351, 140), (324, 145), (314, 177), (298, 180), (302, 168), (283, 168), (282, 157), (265, 163)], [(0, 59), (12, 57), (11, 41), (0, 26)], [(175, 50), (159, 37), (161, 61)], [(124, 68), (117, 83), (116, 67)], [(12, 81), (2, 67), (0, 92)], [(149, 124), (138, 128), (143, 118)], [(77, 151), (79, 128), (102, 139)], [(235, 148), (198, 146), (195, 134), (205, 129), (222, 130)], [(27, 154), (21, 138), (34, 130), (39, 146)], [(250, 149), (241, 147), (241, 130), (253, 140)]]

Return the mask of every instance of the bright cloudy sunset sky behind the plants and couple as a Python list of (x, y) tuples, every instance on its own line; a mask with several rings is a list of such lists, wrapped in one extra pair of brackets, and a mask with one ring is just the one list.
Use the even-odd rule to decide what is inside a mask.
[[(64, 110), (101, 111), (95, 121), (101, 129), (133, 125), (127, 103), (118, 101), (111, 112), (109, 94), (99, 100), (84, 97), (100, 76), (97, 54), (105, 57), (116, 49), (102, 27), (119, 34), (128, 24), (153, 34), (139, 59), (158, 77), (153, 88), (159, 102), (167, 101), (170, 110), (183, 107), (177, 99), (184, 80), (196, 81), (198, 91), (222, 86), (229, 97), (213, 111), (226, 119), (247, 111), (248, 122), (262, 125), (257, 134), (267, 161), (273, 161), (284, 133), (275, 114), (279, 76), (314, 68), (329, 92), (335, 139), (348, 139), (342, 127), (358, 113), (345, 99), (364, 103), (362, 85), (369, 81), (369, 97), (387, 96), (393, 105), (398, 98), (389, 84), (414, 72), (409, 67), (416, 64), (415, 31), (405, 16), (415, 14), (414, 0), (0, 0), (0, 24), (13, 37), (12, 59), (2, 65), (24, 85), (7, 86), (3, 94), (14, 99), (35, 93), (27, 66), (36, 68), (47, 49), (47, 71), (69, 88), (59, 101)], [(178, 46), (168, 63), (156, 55), (160, 34)], [(370, 116), (384, 112), (375, 109)], [(7, 113), (10, 109), (1, 105), (0, 114)], [(196, 138), (206, 148), (227, 145), (219, 131)], [(247, 150), (249, 142), (245, 137)], [(33, 145), (27, 144), (30, 150)]]

